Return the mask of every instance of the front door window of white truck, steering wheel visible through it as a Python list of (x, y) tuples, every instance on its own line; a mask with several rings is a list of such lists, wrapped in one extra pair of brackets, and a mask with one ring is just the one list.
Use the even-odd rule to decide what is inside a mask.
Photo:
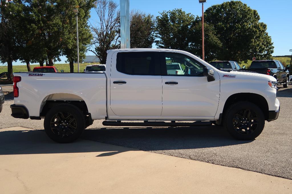
[(203, 76), (205, 66), (192, 57), (173, 52), (160, 53), (163, 75)]

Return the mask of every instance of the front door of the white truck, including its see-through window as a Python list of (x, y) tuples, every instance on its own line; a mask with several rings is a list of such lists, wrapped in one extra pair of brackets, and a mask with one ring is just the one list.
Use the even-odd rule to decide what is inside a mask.
[[(215, 116), (219, 103), (220, 79), (208, 82), (205, 67), (196, 59), (175, 52), (161, 53), (162, 114), (161, 116)], [(180, 63), (183, 75), (166, 73), (166, 63)]]

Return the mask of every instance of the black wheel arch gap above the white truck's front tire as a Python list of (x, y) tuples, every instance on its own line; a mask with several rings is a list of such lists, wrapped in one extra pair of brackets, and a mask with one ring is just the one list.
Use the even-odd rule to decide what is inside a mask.
[(256, 104), (263, 111), (263, 113), (265, 115), (265, 120), (268, 119), (268, 117), (269, 117), (269, 106), (268, 106), (267, 100), (262, 95), (255, 94), (255, 93), (236, 93), (236, 94), (232, 94), (230, 97), (227, 98), (227, 100), (226, 100), (226, 102), (224, 104), (223, 115), (225, 114), (227, 108), (231, 104), (234, 104), (235, 102), (239, 102), (239, 101), (247, 101), (247, 102), (251, 102), (253, 104)]

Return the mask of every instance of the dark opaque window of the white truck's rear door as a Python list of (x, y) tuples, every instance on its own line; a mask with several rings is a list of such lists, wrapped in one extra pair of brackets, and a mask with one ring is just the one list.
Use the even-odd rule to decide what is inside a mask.
[(119, 52), (117, 71), (129, 75), (161, 75), (159, 52)]

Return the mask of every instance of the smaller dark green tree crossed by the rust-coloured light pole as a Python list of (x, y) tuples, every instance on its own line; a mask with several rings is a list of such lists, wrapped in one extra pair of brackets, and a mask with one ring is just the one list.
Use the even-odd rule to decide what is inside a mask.
[[(215, 29), (210, 24), (204, 24), (204, 54), (205, 60), (210, 62), (218, 59), (218, 51), (222, 49), (222, 42), (216, 36)], [(190, 52), (202, 58), (202, 20), (198, 17), (191, 27)]]

